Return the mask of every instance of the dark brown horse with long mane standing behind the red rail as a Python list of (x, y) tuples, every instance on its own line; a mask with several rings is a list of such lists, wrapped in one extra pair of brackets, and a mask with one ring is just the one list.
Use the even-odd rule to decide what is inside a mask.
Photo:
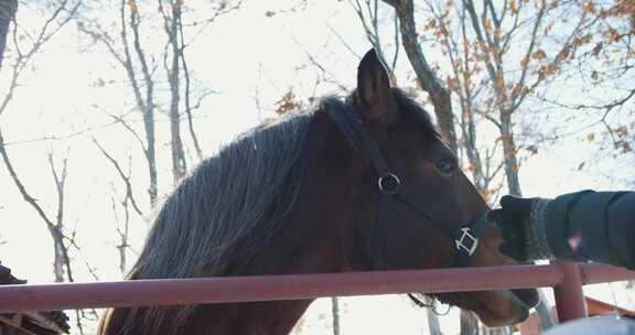
[[(515, 263), (430, 116), (374, 50), (357, 87), (259, 126), (203, 161), (162, 205), (128, 278)], [(444, 293), (483, 323), (518, 323), (535, 290)], [(101, 335), (288, 334), (311, 300), (111, 309)]]

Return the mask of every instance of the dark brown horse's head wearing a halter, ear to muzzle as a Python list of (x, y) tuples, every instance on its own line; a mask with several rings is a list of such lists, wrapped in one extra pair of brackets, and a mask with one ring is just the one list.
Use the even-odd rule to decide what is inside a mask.
[[(347, 105), (326, 102), (322, 110), (326, 112), (316, 115), (313, 125), (321, 136), (309, 140), (309, 174), (321, 181), (315, 190), (325, 191), (324, 197), (348, 204), (334, 205), (346, 218), (334, 229), (343, 229), (338, 236), (357, 246), (355, 255), (347, 256), (349, 269), (516, 263), (498, 251), (503, 240), (487, 223), (489, 207), (461, 171), (455, 153), (428, 114), (391, 87), (375, 51), (362, 60)], [(437, 298), (473, 311), (489, 326), (520, 322), (538, 302), (536, 290)]]

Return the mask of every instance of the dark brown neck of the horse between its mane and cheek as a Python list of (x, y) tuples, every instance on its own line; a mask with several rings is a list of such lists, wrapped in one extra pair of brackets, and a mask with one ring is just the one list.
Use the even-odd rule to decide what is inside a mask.
[[(248, 262), (246, 275), (324, 273), (369, 270), (368, 239), (359, 223), (373, 220), (368, 183), (359, 182), (351, 148), (324, 143), (327, 131), (318, 120), (309, 137), (306, 174), (293, 209)], [(331, 128), (331, 129), (330, 129)], [(367, 231), (366, 231), (367, 233)], [(312, 300), (208, 305), (197, 313), (201, 334), (288, 334)], [(205, 326), (206, 325), (206, 326)], [(209, 332), (214, 326), (216, 332)], [(192, 332), (191, 334), (198, 334)]]

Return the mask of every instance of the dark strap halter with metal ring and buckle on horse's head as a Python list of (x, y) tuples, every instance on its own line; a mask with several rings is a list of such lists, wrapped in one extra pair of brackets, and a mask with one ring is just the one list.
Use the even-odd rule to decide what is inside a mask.
[[(331, 100), (325, 102), (325, 105), (333, 102), (335, 101)], [(326, 112), (340, 130), (344, 132), (347, 138), (355, 139), (356, 144), (360, 147), (358, 149), (364, 150), (368, 154), (377, 176), (379, 203), (372, 238), (373, 268), (377, 270), (385, 270), (387, 268), (385, 250), (388, 240), (390, 214), (392, 213), (395, 202), (406, 205), (444, 231), (453, 241), (452, 249), (455, 250), (454, 267), (465, 266), (470, 257), (476, 251), (478, 238), (488, 224), (487, 212), (476, 220), (456, 227), (434, 218), (430, 213), (422, 210), (419, 206), (405, 198), (399, 192), (402, 186), (401, 180), (389, 169), (379, 144), (373, 139), (368, 130), (363, 127), (363, 121), (357, 109), (349, 104), (340, 101), (336, 101), (336, 104), (344, 105), (344, 107), (333, 106), (330, 108), (329, 106), (324, 106)]]

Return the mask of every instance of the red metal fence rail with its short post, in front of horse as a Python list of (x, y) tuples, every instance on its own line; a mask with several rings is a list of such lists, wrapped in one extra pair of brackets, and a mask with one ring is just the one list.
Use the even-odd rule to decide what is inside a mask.
[(635, 280), (635, 272), (601, 264), (552, 262), (545, 266), (4, 285), (0, 287), (0, 313), (551, 287), (559, 320), (568, 321), (586, 316), (583, 284), (621, 280)]

